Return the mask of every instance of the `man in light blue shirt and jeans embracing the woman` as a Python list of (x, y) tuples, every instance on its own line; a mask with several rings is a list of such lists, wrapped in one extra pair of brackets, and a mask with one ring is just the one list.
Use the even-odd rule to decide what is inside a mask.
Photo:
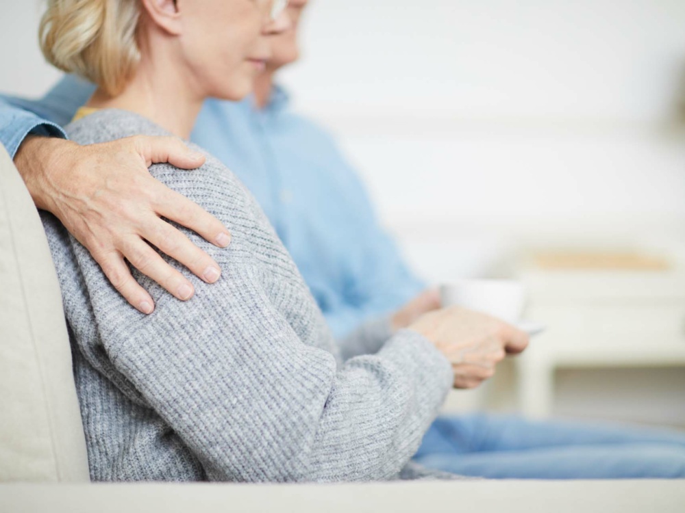
[[(307, 0), (290, 1), (291, 23), (274, 31), (273, 59), (256, 83), (253, 100), (238, 104), (206, 103), (192, 139), (223, 160), (257, 197), (336, 334), (343, 335), (362, 321), (373, 318), (380, 319), (378, 330), (389, 333), (436, 308), (438, 300), (434, 293), (421, 293), (423, 283), (413, 276), (399, 257), (393, 241), (379, 227), (363, 186), (332, 138), (312, 122), (291, 114), (287, 109), (287, 94), (274, 84), (277, 70), (297, 60), (297, 26), (306, 3)], [(10, 155), (14, 155), (37, 205), (52, 209), (94, 256), (108, 255), (101, 259), (96, 256), (96, 259), (129, 302), (146, 311), (147, 308), (140, 305), (148, 302), (151, 306), (152, 300), (140, 287), (136, 288), (129, 275), (126, 276), (123, 257), (133, 260), (139, 269), (147, 269), (147, 272), (143, 271), (145, 274), (150, 273), (153, 279), (157, 276), (158, 281), (166, 284), (166, 289), (186, 300), (192, 290), (182, 291), (185, 285), (182, 276), (169, 274), (156, 261), (136, 260), (126, 254), (127, 237), (142, 237), (186, 264), (206, 281), (219, 278), (219, 270), (207, 260), (208, 257), (197, 254), (189, 248), (189, 243), (168, 228), (157, 228), (165, 231), (161, 240), (167, 244), (158, 244), (152, 238), (155, 229), (149, 226), (159, 222), (155, 213), (171, 218), (168, 205), (173, 201), (169, 193), (155, 188), (155, 184), (144, 178), (141, 148), (131, 150), (124, 141), (114, 149), (65, 146), (66, 149), (61, 150), (46, 145), (66, 145), (67, 142), (36, 138), (21, 144), (23, 135), (29, 131), (27, 127), (34, 132), (42, 131), (41, 135), (48, 135), (49, 131), (59, 133), (57, 125), (68, 122), (91, 91), (88, 84), (68, 77), (42, 102), (8, 98), (15, 108), (0, 109), (0, 140), (8, 146)], [(16, 107), (41, 114), (42, 118), (56, 124), (18, 111)], [(15, 120), (9, 119), (10, 116)], [(179, 148), (175, 150), (182, 153)], [(55, 153), (66, 156), (61, 160), (46, 156)], [(155, 157), (163, 159), (170, 152), (150, 153), (155, 152), (147, 151), (146, 163)], [(135, 176), (142, 181), (140, 191), (154, 193), (141, 194), (136, 187), (130, 186), (116, 189), (116, 183), (126, 182), (122, 176), (134, 175), (125, 169), (127, 166), (119, 164), (115, 172), (108, 170), (102, 162), (121, 163), (122, 154), (126, 157), (125, 162), (137, 166)], [(136, 157), (131, 157), (132, 154)], [(192, 167), (192, 159), (175, 156), (179, 157), (186, 167)], [(52, 162), (55, 170), (50, 168)], [(95, 172), (84, 167), (86, 163), (91, 166), (95, 163), (96, 172), (118, 176), (119, 181), (114, 181), (112, 187), (103, 187), (106, 181), (101, 177), (95, 183), (90, 178)], [(62, 177), (57, 186), (54, 185), (55, 175)], [(72, 178), (66, 181), (64, 176)], [(79, 181), (77, 176), (83, 179)], [(128, 182), (134, 183), (134, 179)], [(69, 194), (83, 200), (80, 203), (70, 201)], [(150, 197), (155, 194), (162, 199), (151, 201)], [(109, 203), (104, 202), (103, 197), (109, 198)], [(51, 201), (44, 198), (51, 198)], [(174, 197), (173, 200), (182, 201), (182, 198)], [(125, 208), (121, 209), (123, 215), (112, 215), (111, 205), (121, 201), (125, 202)], [(80, 204), (86, 206), (79, 208)], [(176, 213), (173, 220), (193, 229), (197, 226), (196, 231), (208, 240), (225, 245), (216, 239), (219, 233), (227, 236), (221, 226), (212, 224), (212, 220), (192, 206), (180, 205), (188, 211)], [(93, 215), (90, 209), (96, 214)], [(125, 221), (121, 221), (122, 218)], [(136, 224), (137, 219), (145, 218), (149, 221)], [(125, 235), (121, 235), (122, 232)], [(110, 236), (112, 241), (108, 240)], [(214, 269), (214, 272), (207, 269)], [(415, 299), (410, 300), (412, 297)], [(407, 301), (407, 306), (392, 317), (384, 318)], [(464, 386), (475, 385), (477, 382), (464, 383)], [(685, 475), (685, 437), (565, 423), (528, 423), (521, 419), (488, 416), (443, 418), (429, 430), (416, 459), (434, 468), (485, 477), (677, 477)]]

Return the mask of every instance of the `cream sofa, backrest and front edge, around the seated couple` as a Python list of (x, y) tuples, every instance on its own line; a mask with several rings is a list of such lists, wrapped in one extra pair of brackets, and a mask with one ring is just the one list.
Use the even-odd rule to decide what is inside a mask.
[(91, 484), (58, 279), (0, 146), (0, 512), (684, 512), (683, 481)]

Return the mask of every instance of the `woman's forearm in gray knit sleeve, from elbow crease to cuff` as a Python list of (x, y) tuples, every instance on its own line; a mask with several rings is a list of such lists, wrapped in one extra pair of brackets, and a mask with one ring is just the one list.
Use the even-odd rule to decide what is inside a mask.
[(410, 330), (398, 332), (373, 356), (351, 358), (327, 398), (308, 479), (397, 475), (419, 448), (451, 384), (445, 357)]

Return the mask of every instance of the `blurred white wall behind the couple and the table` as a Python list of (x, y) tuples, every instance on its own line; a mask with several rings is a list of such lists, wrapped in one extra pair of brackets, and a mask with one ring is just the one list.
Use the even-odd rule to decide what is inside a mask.
[[(0, 6), (0, 90), (38, 94), (37, 2)], [(314, 0), (303, 29), (284, 81), (429, 279), (521, 244), (685, 242), (684, 0)], [(606, 406), (572, 383), (560, 412)]]

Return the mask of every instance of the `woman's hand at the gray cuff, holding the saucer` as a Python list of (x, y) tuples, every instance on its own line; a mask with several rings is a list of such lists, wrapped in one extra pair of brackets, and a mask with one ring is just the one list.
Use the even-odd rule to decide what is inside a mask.
[(458, 389), (474, 389), (494, 376), (495, 366), (506, 354), (523, 352), (528, 345), (526, 332), (458, 306), (427, 313), (409, 328), (447, 357)]

